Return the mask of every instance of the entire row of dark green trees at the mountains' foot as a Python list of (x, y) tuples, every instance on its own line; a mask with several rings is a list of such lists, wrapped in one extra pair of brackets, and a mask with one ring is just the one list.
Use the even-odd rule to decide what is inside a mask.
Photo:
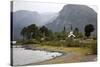
[[(65, 30), (65, 26), (62, 30), (62, 32), (52, 32), (49, 30), (46, 26), (38, 27), (35, 24), (31, 24), (27, 27), (24, 27), (21, 30), (21, 35), (23, 36), (23, 40), (25, 39), (47, 39), (47, 40), (53, 40), (53, 39), (66, 39), (68, 33)], [(92, 24), (87, 24), (84, 27), (84, 35), (88, 38), (91, 36), (91, 32), (94, 31), (94, 26)], [(83, 34), (79, 32), (78, 28), (74, 29), (74, 35), (76, 38), (82, 38)]]

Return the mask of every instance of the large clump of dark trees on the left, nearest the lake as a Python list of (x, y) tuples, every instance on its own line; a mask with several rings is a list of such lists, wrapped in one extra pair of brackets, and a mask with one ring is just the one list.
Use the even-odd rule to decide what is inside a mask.
[(24, 27), (21, 31), (21, 35), (24, 39), (40, 39), (42, 37), (50, 37), (52, 34), (51, 30), (45, 26), (37, 27), (35, 24)]

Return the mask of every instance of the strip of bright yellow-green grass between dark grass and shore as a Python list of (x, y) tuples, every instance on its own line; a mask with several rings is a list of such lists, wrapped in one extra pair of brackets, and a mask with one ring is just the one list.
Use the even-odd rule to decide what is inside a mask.
[[(33, 47), (34, 48), (34, 47)], [(80, 47), (54, 47), (54, 46), (38, 46), (36, 47), (37, 49), (44, 49), (44, 50), (49, 50), (49, 51), (58, 51), (58, 52), (77, 52), (80, 54), (87, 54), (91, 53), (91, 49), (89, 48), (80, 48)]]

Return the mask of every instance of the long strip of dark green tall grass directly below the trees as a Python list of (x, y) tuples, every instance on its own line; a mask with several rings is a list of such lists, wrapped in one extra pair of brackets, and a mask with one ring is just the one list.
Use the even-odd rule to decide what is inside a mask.
[(18, 41), (21, 44), (39, 44), (41, 46), (54, 46), (54, 47), (80, 47), (89, 48), (92, 54), (97, 54), (96, 40), (80, 40), (67, 38), (66, 40), (52, 40), (52, 41), (38, 41), (35, 39)]

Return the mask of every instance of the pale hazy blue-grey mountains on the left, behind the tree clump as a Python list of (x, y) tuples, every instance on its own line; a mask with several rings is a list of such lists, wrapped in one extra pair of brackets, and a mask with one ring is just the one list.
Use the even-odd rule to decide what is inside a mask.
[(23, 27), (31, 24), (37, 26), (45, 25), (47, 22), (50, 23), (57, 17), (56, 13), (53, 14), (39, 14), (38, 12), (20, 10), (12, 12), (13, 14), (13, 40), (21, 39), (20, 32)]

